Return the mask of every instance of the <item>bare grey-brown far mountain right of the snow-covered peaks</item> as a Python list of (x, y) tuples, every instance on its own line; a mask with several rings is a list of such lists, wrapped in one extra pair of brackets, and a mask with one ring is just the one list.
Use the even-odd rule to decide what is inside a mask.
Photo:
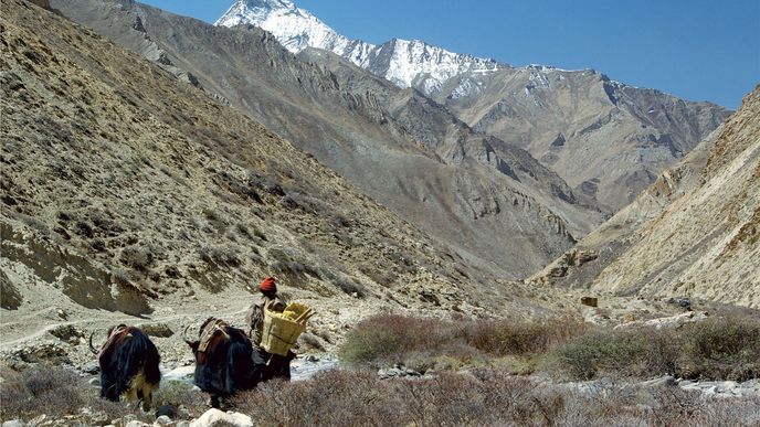
[(730, 113), (591, 70), (538, 65), (461, 75), (435, 99), (473, 128), (525, 148), (579, 195), (611, 212), (633, 201)]

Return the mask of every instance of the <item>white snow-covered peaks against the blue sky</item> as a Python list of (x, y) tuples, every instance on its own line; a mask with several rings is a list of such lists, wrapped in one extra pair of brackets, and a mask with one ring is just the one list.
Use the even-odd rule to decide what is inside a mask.
[(350, 40), (288, 0), (239, 0), (217, 21), (217, 25), (239, 24), (271, 32), (293, 53), (306, 47), (331, 51), (398, 86), (414, 86), (426, 94), (439, 92), (458, 74), (499, 67), (494, 60), (456, 54), (420, 40), (393, 39), (382, 45)]

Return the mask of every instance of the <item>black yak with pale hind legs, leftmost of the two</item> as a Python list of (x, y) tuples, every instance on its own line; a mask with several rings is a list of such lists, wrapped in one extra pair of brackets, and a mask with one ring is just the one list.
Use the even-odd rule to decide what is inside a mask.
[(126, 324), (108, 329), (101, 350), (93, 346), (93, 334), (89, 349), (101, 365), (101, 396), (114, 402), (122, 395), (142, 401), (142, 410), (149, 410), (152, 392), (161, 381), (156, 345), (139, 328)]

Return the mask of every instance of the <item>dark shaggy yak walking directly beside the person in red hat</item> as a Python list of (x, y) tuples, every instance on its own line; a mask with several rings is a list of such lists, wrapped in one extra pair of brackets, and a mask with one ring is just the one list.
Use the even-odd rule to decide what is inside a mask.
[(190, 341), (186, 335), (184, 342), (196, 357), (193, 382), (210, 395), (212, 407), (219, 408), (236, 392), (256, 386), (253, 344), (242, 329), (212, 317), (201, 324), (198, 340)]

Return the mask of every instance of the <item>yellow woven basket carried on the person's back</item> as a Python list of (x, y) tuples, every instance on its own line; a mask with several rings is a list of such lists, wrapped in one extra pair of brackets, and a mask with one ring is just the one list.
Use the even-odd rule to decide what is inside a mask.
[(314, 313), (314, 310), (297, 302), (287, 305), (282, 313), (265, 308), (262, 349), (267, 353), (287, 355)]

